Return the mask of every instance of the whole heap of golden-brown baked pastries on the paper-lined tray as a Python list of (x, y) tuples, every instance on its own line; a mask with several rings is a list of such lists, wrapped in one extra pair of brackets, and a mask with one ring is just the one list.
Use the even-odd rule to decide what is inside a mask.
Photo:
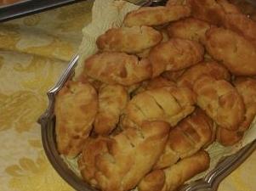
[(256, 115), (256, 23), (226, 0), (128, 13), (56, 98), (60, 154), (103, 191), (172, 191)]

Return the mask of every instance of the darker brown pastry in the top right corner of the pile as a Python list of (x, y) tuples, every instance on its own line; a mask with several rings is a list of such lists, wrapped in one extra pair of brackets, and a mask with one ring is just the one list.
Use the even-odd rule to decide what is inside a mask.
[[(225, 26), (231, 31), (246, 37), (250, 42), (256, 44), (256, 23), (242, 14), (236, 5), (226, 0), (188, 0), (191, 5), (191, 13), (200, 20)], [(246, 29), (246, 30), (245, 30)]]

